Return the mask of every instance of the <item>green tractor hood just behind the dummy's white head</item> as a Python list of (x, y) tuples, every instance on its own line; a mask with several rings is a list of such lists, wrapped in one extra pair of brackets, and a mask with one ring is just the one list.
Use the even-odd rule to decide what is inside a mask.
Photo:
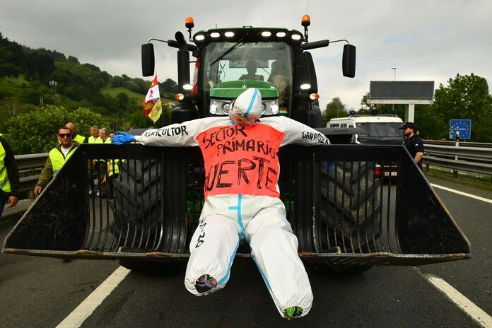
[(264, 81), (227, 81), (218, 83), (210, 90), (211, 99), (235, 99), (247, 88), (257, 88), (262, 94), (263, 100), (279, 98), (279, 90), (268, 82)]

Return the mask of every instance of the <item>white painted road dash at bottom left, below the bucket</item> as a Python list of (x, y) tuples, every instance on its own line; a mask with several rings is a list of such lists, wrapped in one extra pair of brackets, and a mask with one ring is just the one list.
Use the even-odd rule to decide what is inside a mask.
[(94, 312), (96, 307), (101, 305), (102, 301), (107, 298), (107, 295), (118, 286), (120, 282), (129, 274), (130, 270), (119, 266), (111, 276), (100, 284), (98, 288), (95, 288), (88, 297), (83, 300), (81, 304), (72, 311), (68, 317), (66, 317), (57, 328), (78, 328), (81, 324)]

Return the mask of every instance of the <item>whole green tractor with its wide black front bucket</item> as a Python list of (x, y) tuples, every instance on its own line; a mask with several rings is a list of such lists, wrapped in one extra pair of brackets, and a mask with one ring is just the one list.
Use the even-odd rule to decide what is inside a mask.
[[(150, 39), (142, 46), (142, 73), (154, 72), (151, 41), (177, 48), (179, 103), (172, 110), (173, 123), (228, 115), (235, 98), (255, 87), (262, 94), (263, 115), (286, 115), (329, 136), (331, 146), (279, 151), (281, 199), (307, 264), (355, 273), (374, 265), (471, 257), (469, 241), (406, 148), (353, 145), (351, 136), (364, 131), (321, 127), (315, 65), (307, 50), (346, 42), (342, 72), (353, 78), (356, 48), (346, 40), (309, 42), (309, 16), (302, 25), (304, 33), (245, 26), (192, 35), (194, 23), (187, 18), (188, 41), (177, 32), (175, 40)], [(87, 168), (96, 159), (118, 163), (119, 172), (113, 171), (109, 182), (93, 182), (94, 172)], [(382, 183), (376, 163), (381, 172), (392, 168), (397, 175)], [(4, 252), (117, 259), (131, 269), (169, 268), (189, 257), (204, 204), (204, 180), (197, 147), (83, 144), (13, 228)], [(110, 184), (107, 198), (90, 193), (93, 183)], [(237, 256), (250, 256), (247, 245)]]

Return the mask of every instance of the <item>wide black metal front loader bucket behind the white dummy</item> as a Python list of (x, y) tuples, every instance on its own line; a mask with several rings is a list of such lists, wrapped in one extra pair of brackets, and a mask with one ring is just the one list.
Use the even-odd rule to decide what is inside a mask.
[[(403, 146), (287, 146), (279, 158), (281, 199), (305, 262), (347, 271), (471, 257), (469, 241)], [(397, 174), (382, 180), (376, 170), (385, 167)], [(3, 251), (186, 260), (204, 175), (199, 148), (83, 144)], [(248, 253), (247, 245), (238, 250)]]

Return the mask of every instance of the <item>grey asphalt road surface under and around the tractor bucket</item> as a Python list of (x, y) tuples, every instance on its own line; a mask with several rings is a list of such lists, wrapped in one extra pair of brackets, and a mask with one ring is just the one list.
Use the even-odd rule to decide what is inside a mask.
[[(431, 182), (492, 199), (450, 182)], [(286, 322), (250, 259), (236, 259), (222, 291), (197, 298), (182, 280), (131, 272), (82, 327), (477, 327), (424, 279), (435, 274), (492, 315), (492, 204), (436, 189), (472, 242), (473, 259), (414, 267), (375, 267), (353, 276), (309, 270), (315, 303), (309, 315)], [(0, 239), (6, 228), (0, 228)], [(117, 262), (0, 255), (0, 327), (56, 327)]]

